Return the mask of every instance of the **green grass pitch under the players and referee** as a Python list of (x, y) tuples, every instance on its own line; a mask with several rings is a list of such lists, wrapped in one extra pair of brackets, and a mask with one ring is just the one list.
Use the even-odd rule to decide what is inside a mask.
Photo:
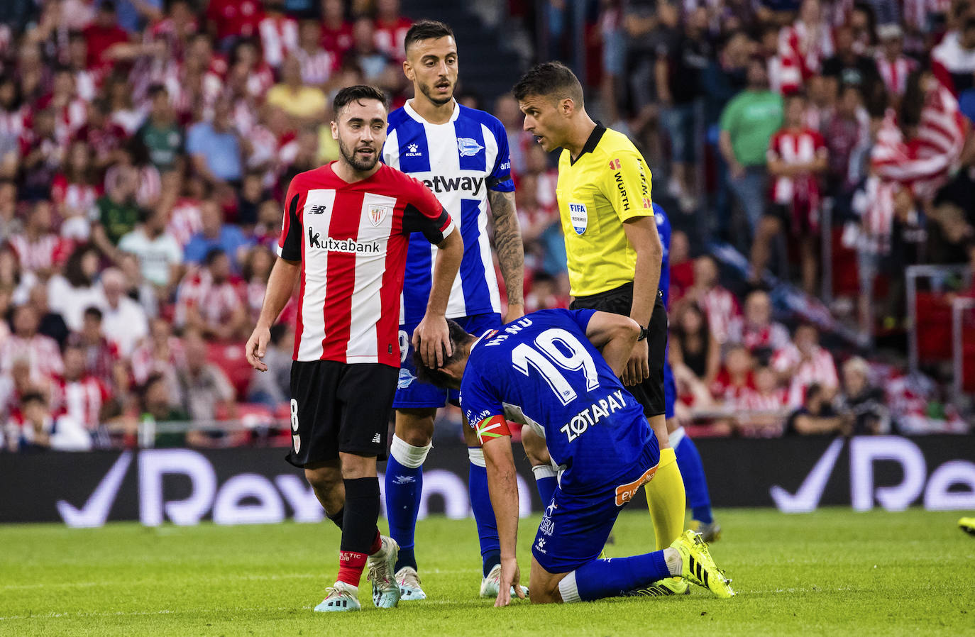
[[(336, 572), (322, 524), (193, 528), (0, 527), (0, 635), (900, 635), (975, 634), (975, 539), (957, 512), (720, 510), (712, 545), (738, 596), (494, 609), (477, 598), (473, 520), (419, 523), (430, 599), (317, 614)], [(537, 517), (523, 520), (520, 562)], [(610, 556), (652, 548), (645, 510), (625, 511)]]

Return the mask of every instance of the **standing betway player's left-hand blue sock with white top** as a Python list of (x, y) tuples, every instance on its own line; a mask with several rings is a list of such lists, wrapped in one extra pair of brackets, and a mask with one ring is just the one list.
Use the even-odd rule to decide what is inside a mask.
[(429, 449), (429, 445), (414, 447), (394, 435), (392, 453), (386, 462), (386, 518), (390, 537), (400, 545), (397, 571), (405, 566), (416, 568), (413, 537), (423, 492), (422, 463)]

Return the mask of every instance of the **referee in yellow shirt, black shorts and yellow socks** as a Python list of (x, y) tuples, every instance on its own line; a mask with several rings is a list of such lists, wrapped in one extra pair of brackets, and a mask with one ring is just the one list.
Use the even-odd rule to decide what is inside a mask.
[(556, 192), (572, 309), (629, 316), (643, 327), (622, 380), (643, 405), (660, 444), (660, 465), (646, 487), (660, 549), (683, 532), (684, 491), (664, 421), (667, 314), (657, 288), (663, 248), (650, 203), (650, 170), (626, 135), (589, 117), (582, 86), (565, 65), (538, 64), (513, 93), (525, 113), (525, 130), (546, 151), (563, 149)]

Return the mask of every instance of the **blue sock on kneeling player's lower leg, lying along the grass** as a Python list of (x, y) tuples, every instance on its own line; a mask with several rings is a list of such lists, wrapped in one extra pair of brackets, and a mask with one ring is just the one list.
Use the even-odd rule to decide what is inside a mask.
[[(634, 555), (633, 557), (613, 557), (607, 560), (593, 560), (580, 566), (565, 578), (565, 586), (560, 583), (559, 590), (566, 602), (573, 599), (577, 591), (578, 599), (592, 601), (604, 597), (622, 595), (651, 582), (671, 577), (664, 551)], [(573, 590), (574, 583), (574, 590)]]

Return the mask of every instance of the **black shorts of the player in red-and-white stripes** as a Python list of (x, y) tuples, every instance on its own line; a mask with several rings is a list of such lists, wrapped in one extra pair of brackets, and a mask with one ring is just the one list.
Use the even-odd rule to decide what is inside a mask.
[(338, 452), (386, 459), (389, 413), (399, 370), (379, 363), (292, 362), (292, 452), (295, 467)]

